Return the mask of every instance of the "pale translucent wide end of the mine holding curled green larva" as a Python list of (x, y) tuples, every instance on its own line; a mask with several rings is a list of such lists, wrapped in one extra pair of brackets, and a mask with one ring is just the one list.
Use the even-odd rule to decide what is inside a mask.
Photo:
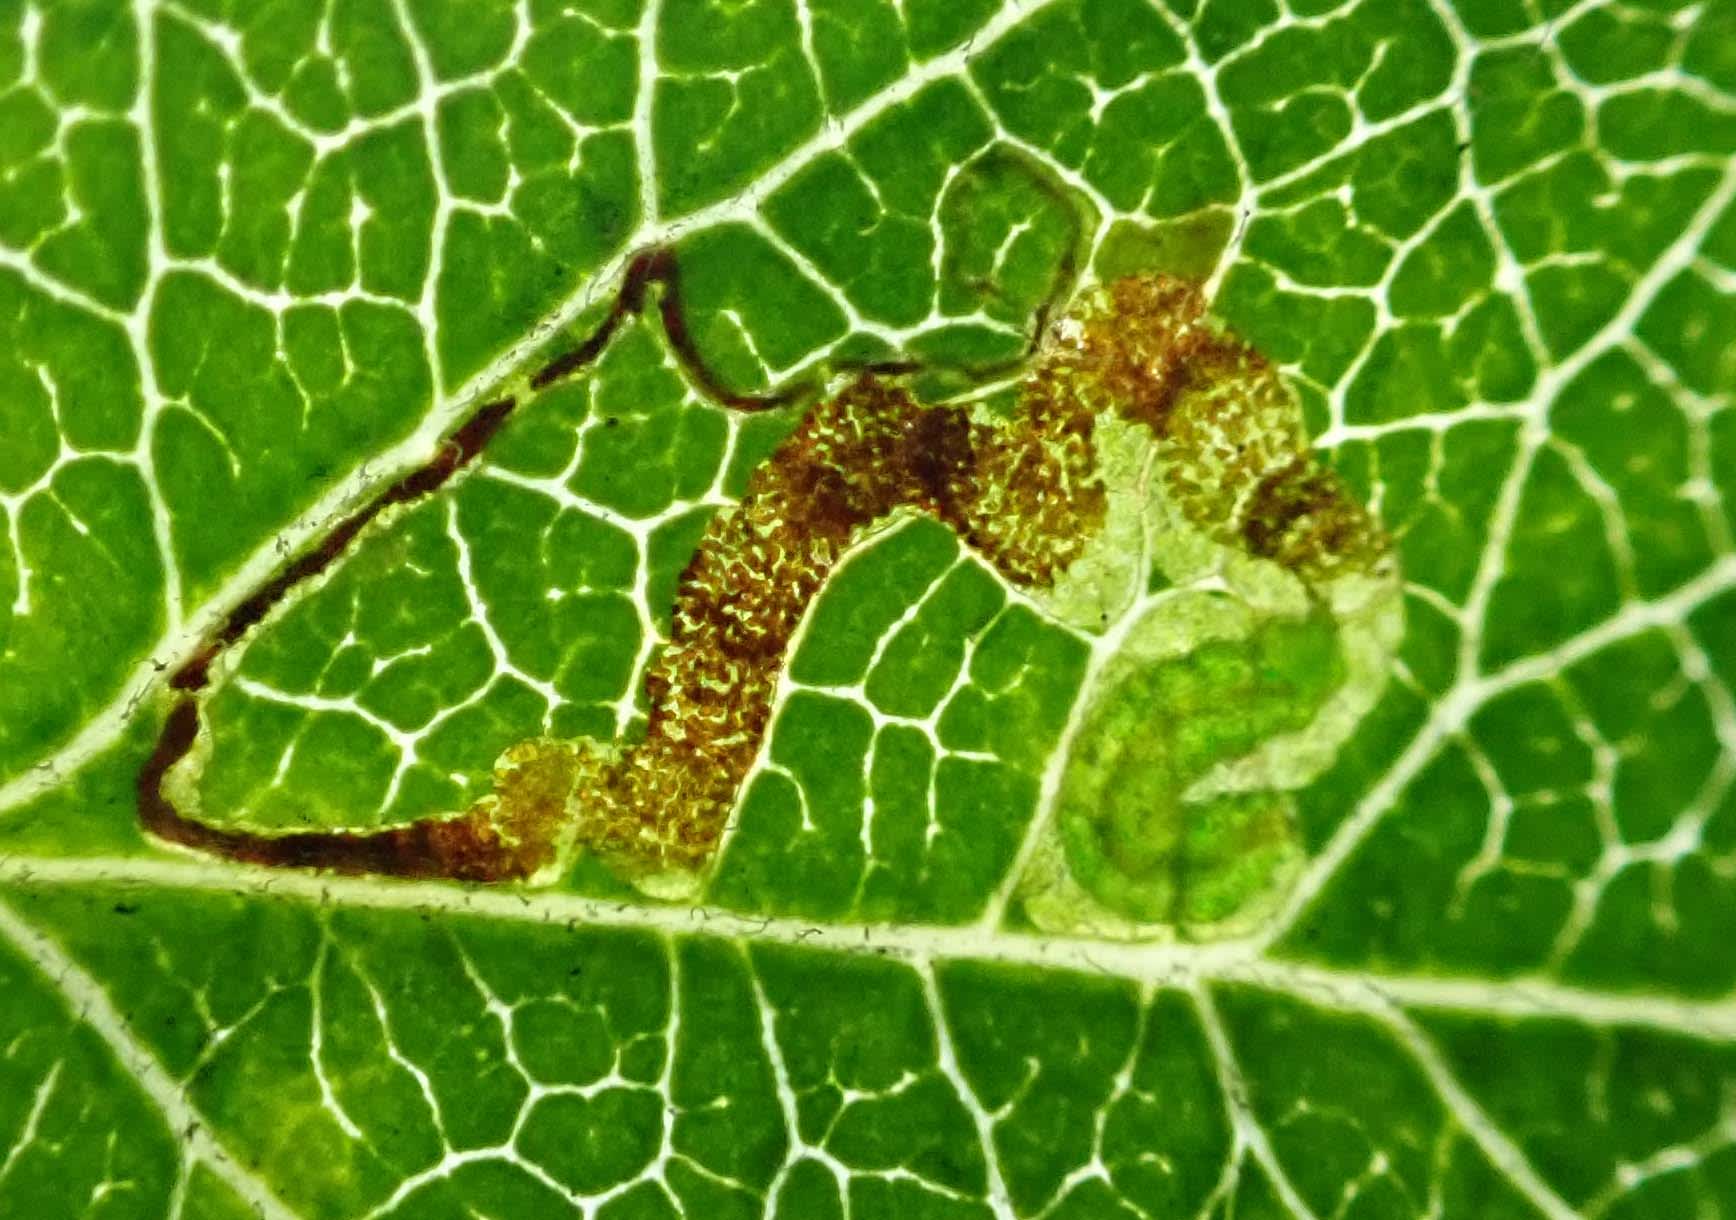
[[(1057, 342), (1080, 342), (1078, 323), (1057, 330)], [(1238, 396), (1246, 401), (1238, 403)], [(1031, 592), (1057, 620), (1092, 632), (1095, 656), (1062, 757), (1050, 765), (1045, 821), (1035, 831), (1016, 897), (1045, 932), (1236, 937), (1260, 925), (1305, 863), (1293, 793), (1332, 765), (1385, 687), (1403, 635), (1397, 566), (1378, 526), (1307, 455), (1300, 408), (1264, 361), (1246, 375), (1182, 390), (1161, 436), (1123, 417), (1125, 404), (1106, 404), (1097, 418), (1104, 528), (1052, 588)], [(1234, 469), (1250, 453), (1252, 474)], [(1316, 529), (1314, 541), (1323, 545), (1300, 562), (1295, 547), (1253, 554), (1255, 531), (1246, 528), (1259, 488), (1286, 467), (1300, 472), (1297, 477), (1337, 484), (1333, 510), (1361, 519), (1349, 531)], [(1305, 515), (1299, 529), (1309, 531)], [(1307, 623), (1321, 632), (1302, 632)], [(1307, 706), (1279, 715), (1255, 706), (1260, 680), (1248, 685), (1241, 675), (1243, 685), (1226, 687), (1222, 696), (1245, 703), (1210, 706), (1220, 750), (1205, 767), (1177, 765), (1177, 755), (1213, 751), (1210, 743), (1174, 746), (1191, 727), (1167, 718), (1160, 701), (1132, 720), (1113, 715), (1111, 705), (1141, 679), (1168, 672), (1174, 687), (1201, 658), (1222, 666), (1238, 653), (1257, 656), (1262, 640), (1318, 642), (1323, 633), (1337, 653), (1328, 687), (1314, 691)], [(1210, 680), (1201, 682), (1210, 687)], [(1271, 684), (1266, 692), (1286, 694)], [(1278, 729), (1262, 736), (1260, 722)], [(1234, 748), (1248, 734), (1257, 743)], [(1156, 757), (1174, 771), (1141, 777), (1128, 771), (1141, 755), (1147, 769)], [(1094, 816), (1109, 821), (1118, 800), (1149, 798), (1151, 788), (1127, 791), (1141, 779), (1160, 788), (1170, 783), (1165, 800), (1147, 800), (1153, 809), (1142, 823), (1121, 826), (1147, 835), (1147, 859), (1139, 861), (1147, 868), (1116, 873), (1113, 861), (1087, 854), (1095, 861), (1094, 875), (1082, 859), (1082, 823)], [(1099, 802), (1094, 814), (1082, 812), (1082, 798)], [(1102, 831), (1101, 838), (1115, 835)]]

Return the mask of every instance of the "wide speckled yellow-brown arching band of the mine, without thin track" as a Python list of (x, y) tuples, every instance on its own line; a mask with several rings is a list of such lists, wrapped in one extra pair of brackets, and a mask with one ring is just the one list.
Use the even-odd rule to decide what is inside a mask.
[(1057, 328), (1010, 422), (920, 406), (870, 377), (809, 411), (681, 578), (668, 646), (646, 677), (646, 739), (582, 755), (578, 840), (648, 871), (710, 859), (797, 625), (887, 514), (929, 514), (1009, 581), (1052, 583), (1104, 521), (1101, 413), (1154, 434), (1167, 493), (1217, 541), (1305, 580), (1366, 564), (1384, 545), (1309, 456), (1271, 364), (1205, 314), (1200, 290), (1121, 279)]

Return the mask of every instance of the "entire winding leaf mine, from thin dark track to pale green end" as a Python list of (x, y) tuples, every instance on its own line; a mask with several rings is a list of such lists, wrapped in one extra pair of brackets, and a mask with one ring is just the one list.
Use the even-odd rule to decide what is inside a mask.
[[(649, 278), (665, 278), (668, 321), (674, 269), (634, 274), (589, 351), (533, 385), (582, 371), (642, 309)], [(679, 316), (667, 330), (679, 351)], [(339, 526), (255, 600), (269, 607), (375, 515), (439, 488), (496, 423), (455, 436), (437, 469)], [(1257, 918), (1302, 859), (1286, 793), (1332, 760), (1385, 679), (1397, 580), (1377, 522), (1309, 455), (1271, 364), (1207, 314), (1194, 285), (1163, 276), (1082, 293), (1007, 410), (924, 404), (898, 366), (816, 394), (681, 573), (644, 679), (642, 738), (523, 741), (495, 790), (455, 817), (372, 833), (217, 828), (191, 800), (196, 699), (222, 682), (222, 646), (264, 616), (243, 607), (179, 675), (193, 694), (141, 777), (141, 812), (165, 838), (255, 863), (526, 880), (583, 850), (648, 892), (687, 892), (726, 838), (816, 597), (852, 548), (911, 514), (943, 522), (1106, 658), (1017, 883), (1028, 916), (1193, 937)]]

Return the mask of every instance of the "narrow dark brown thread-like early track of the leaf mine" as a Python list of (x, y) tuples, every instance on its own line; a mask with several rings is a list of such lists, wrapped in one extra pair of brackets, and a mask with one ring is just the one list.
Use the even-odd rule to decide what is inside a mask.
[[(1076, 245), (1076, 241), (1075, 241)], [(1071, 292), (1078, 278), (1076, 253), (1069, 253), (1057, 269), (1050, 298), (1035, 318), (1028, 352), (1042, 342), (1047, 318), (1055, 302)], [(529, 378), (531, 390), (543, 390), (556, 382), (589, 370), (608, 349), (621, 325), (644, 314), (656, 286), (658, 319), (675, 359), (687, 380), (710, 401), (736, 411), (767, 411), (788, 406), (812, 394), (818, 377), (799, 380), (767, 394), (743, 394), (729, 389), (712, 370), (693, 342), (681, 293), (681, 271), (674, 250), (651, 248), (627, 266), (621, 286), (609, 312), (573, 351), (564, 352)], [(1024, 356), (1003, 368), (976, 370), (993, 377), (1016, 368)], [(878, 377), (896, 377), (922, 371), (918, 361), (882, 359), (840, 364), (835, 371), (856, 371)], [(212, 666), (262, 623), (283, 599), (300, 585), (314, 580), (337, 564), (363, 531), (387, 508), (415, 503), (444, 488), (453, 476), (476, 462), (490, 441), (500, 434), (517, 410), (516, 397), (500, 397), (479, 406), (464, 423), (448, 434), (434, 455), (410, 470), (366, 505), (332, 526), (309, 550), (292, 559), (253, 594), (243, 599), (200, 649), (177, 668), (168, 687), (177, 692), (168, 718), (158, 734), (156, 748), (139, 771), (137, 800), (139, 823), (144, 830), (168, 843), (210, 852), (245, 864), (269, 868), (321, 868), (337, 873), (377, 873), (385, 876), (439, 876), (455, 880), (496, 882), (514, 880), (528, 869), (505, 850), (496, 831), (486, 821), (460, 816), (424, 819), (380, 831), (290, 831), (253, 833), (226, 830), (182, 814), (165, 790), (170, 769), (193, 750), (200, 729), (200, 698), (210, 685)]]

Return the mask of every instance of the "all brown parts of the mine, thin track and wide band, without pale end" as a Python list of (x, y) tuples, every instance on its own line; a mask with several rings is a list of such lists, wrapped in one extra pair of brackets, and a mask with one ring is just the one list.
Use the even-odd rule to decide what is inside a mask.
[[(634, 260), (597, 330), (535, 378), (545, 387), (589, 366), (621, 321), (658, 292), (663, 331), (687, 375), (736, 410), (774, 406), (726, 392), (687, 337), (675, 260)], [(533, 741), (510, 750), (495, 791), (465, 814), (372, 833), (253, 835), (182, 817), (163, 793), (198, 732), (198, 705), (175, 705), (139, 776), (146, 828), (233, 859), (337, 871), (460, 880), (526, 878), (571, 828), (628, 871), (693, 869), (717, 847), (769, 729), (790, 640), (825, 581), (863, 533), (898, 510), (932, 515), (1009, 581), (1042, 588), (1101, 529), (1097, 418), (1153, 434), (1165, 495), (1198, 529), (1272, 559), (1305, 581), (1370, 566), (1384, 538), (1342, 481), (1305, 446), (1295, 403), (1274, 370), (1205, 312), (1200, 290), (1161, 276), (1090, 295), (1026, 375), (1017, 410), (986, 423), (918, 406), (885, 363), (809, 410), (719, 514), (684, 569), (670, 639), (646, 673), (648, 725), (625, 750)], [(330, 566), (385, 507), (425, 496), (495, 436), (512, 401), (483, 408), (368, 508), (340, 522), (240, 606), (172, 685), (200, 691), (215, 656), (293, 587)]]

